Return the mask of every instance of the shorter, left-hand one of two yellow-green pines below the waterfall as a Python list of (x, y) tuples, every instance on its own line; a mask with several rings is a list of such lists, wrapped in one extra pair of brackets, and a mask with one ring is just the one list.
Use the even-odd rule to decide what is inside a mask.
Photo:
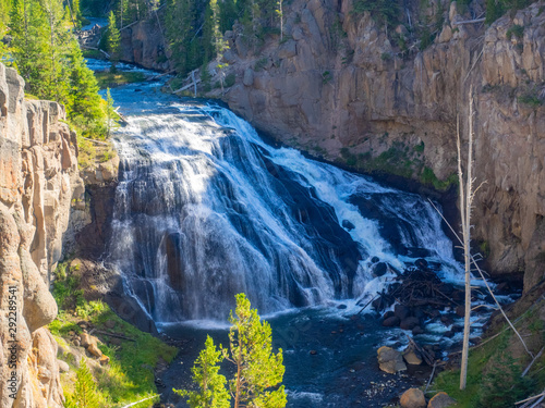
[(216, 349), (210, 336), (206, 338), (205, 348), (198, 355), (192, 368), (193, 382), (198, 391), (173, 390), (174, 393), (187, 397), (191, 408), (230, 408), (231, 396), (226, 388), (227, 380), (219, 374), (219, 363), (223, 360), (220, 350)]

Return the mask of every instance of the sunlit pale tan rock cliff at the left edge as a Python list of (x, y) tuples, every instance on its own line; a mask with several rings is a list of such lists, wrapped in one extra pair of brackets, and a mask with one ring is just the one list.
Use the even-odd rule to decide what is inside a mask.
[(24, 82), (0, 64), (0, 405), (61, 407), (57, 316), (49, 274), (71, 212), (83, 199), (77, 146), (64, 110), (24, 99)]

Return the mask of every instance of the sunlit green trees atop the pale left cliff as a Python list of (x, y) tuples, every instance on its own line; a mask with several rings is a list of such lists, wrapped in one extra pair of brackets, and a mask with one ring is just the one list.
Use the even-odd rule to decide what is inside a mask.
[(17, 70), (25, 94), (62, 103), (80, 133), (105, 137), (107, 104), (73, 35), (82, 22), (78, 0), (0, 2), (0, 61)]

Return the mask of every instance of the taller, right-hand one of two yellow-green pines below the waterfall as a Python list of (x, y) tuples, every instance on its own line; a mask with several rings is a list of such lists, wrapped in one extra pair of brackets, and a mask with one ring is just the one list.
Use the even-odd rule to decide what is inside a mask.
[(262, 323), (257, 310), (250, 306), (244, 294), (237, 295), (235, 314), (231, 311), (229, 318), (229, 355), (223, 351), (237, 367), (234, 379), (229, 381), (234, 408), (282, 408), (287, 404), (283, 385), (278, 387), (284, 373), (282, 350), (272, 353), (270, 325)]

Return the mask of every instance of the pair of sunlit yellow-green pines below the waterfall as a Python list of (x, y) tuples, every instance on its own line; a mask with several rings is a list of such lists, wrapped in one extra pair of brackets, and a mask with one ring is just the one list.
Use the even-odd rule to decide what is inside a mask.
[[(229, 318), (232, 324), (229, 349), (219, 346), (218, 351), (208, 336), (192, 369), (198, 391), (174, 392), (187, 397), (191, 408), (228, 408), (231, 396), (235, 408), (283, 408), (287, 397), (280, 385), (284, 373), (282, 350), (272, 353), (270, 325), (261, 321), (256, 309), (251, 309), (246, 296), (239, 294), (235, 298), (237, 308), (234, 314), (231, 310)], [(219, 374), (218, 364), (223, 359), (235, 366), (228, 388), (226, 378)]]

